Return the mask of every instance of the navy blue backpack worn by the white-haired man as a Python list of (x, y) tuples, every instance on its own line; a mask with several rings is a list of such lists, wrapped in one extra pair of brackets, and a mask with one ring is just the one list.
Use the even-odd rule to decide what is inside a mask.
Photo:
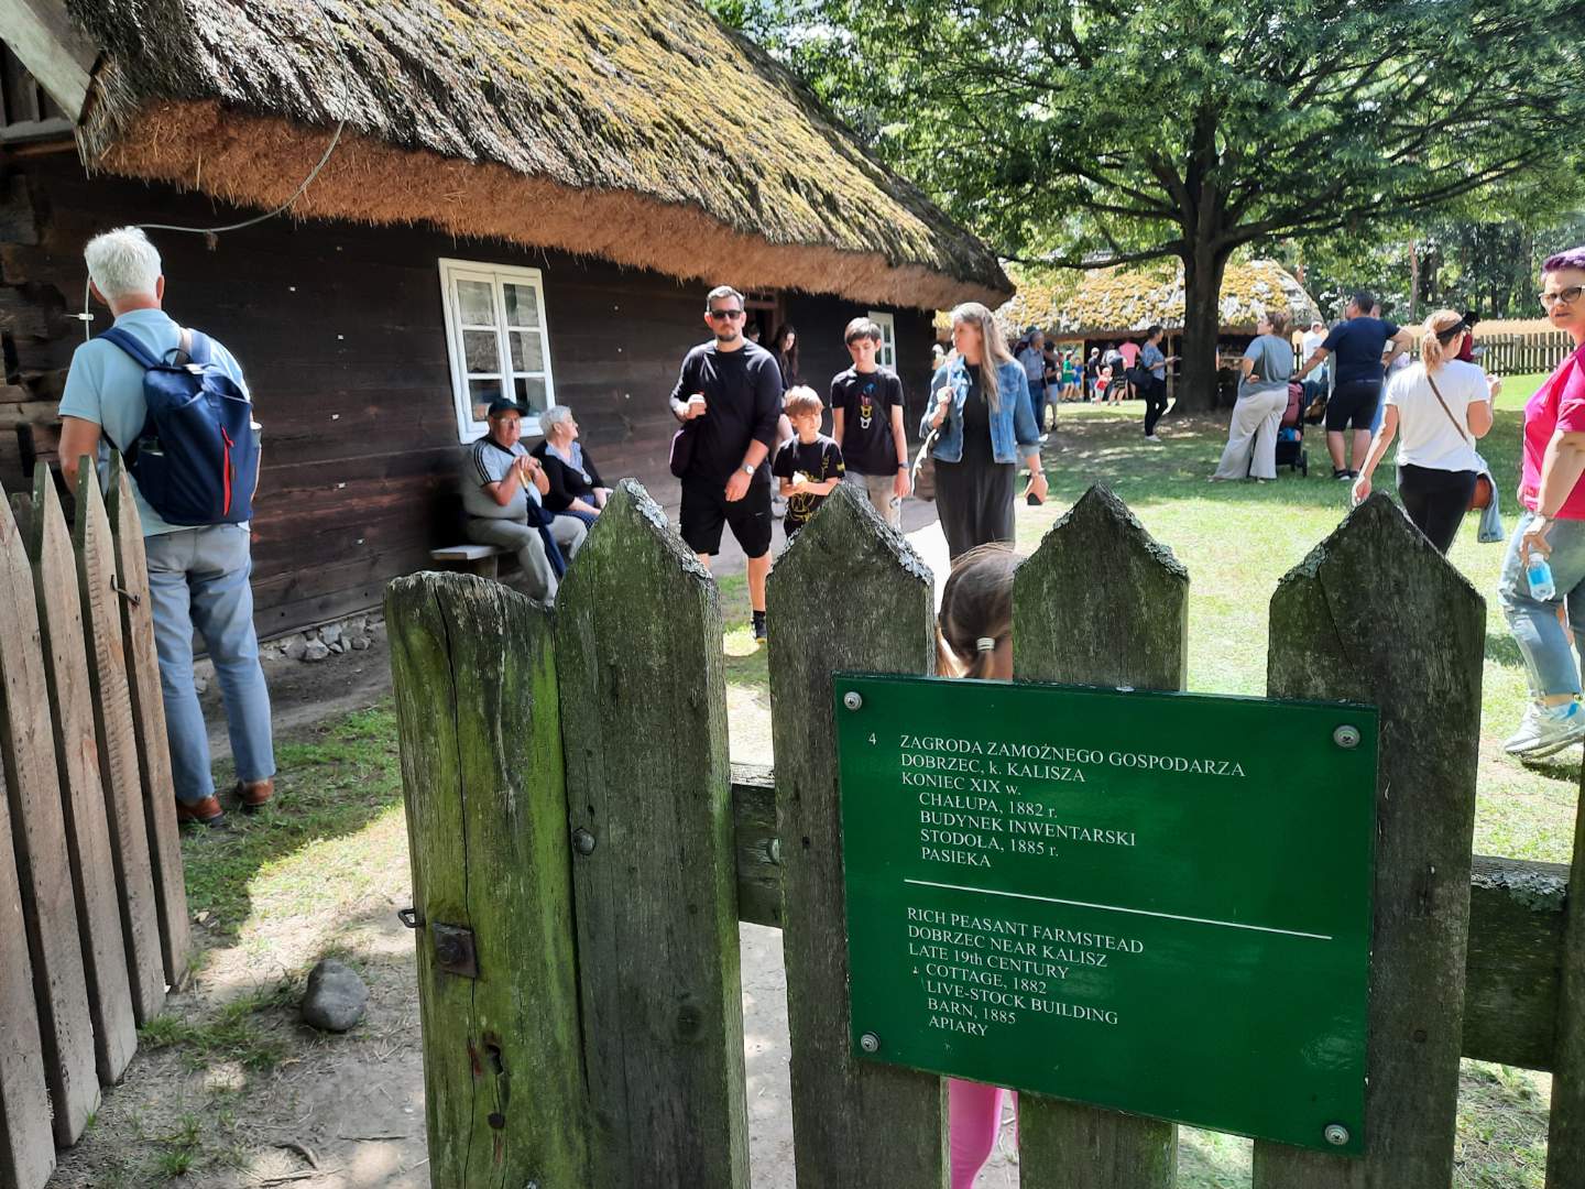
[(143, 368), (149, 415), (138, 441), (117, 449), (149, 507), (168, 525), (250, 520), (258, 479), (254, 406), (214, 363), (208, 336), (182, 331), (185, 346), (174, 352), (174, 360), (155, 358), (119, 327), (98, 338)]

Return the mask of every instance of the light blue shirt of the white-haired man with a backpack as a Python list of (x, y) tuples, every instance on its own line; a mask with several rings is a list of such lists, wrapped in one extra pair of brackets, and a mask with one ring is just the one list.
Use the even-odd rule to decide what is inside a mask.
[[(116, 325), (130, 331), (152, 354), (165, 357), (181, 346), (181, 327), (163, 309), (132, 309), (116, 319)], [(238, 366), (225, 347), (214, 339), (214, 363), (236, 384), (247, 392), (243, 380), (243, 368)], [(89, 339), (71, 354), (71, 371), (67, 373), (67, 392), (60, 398), (62, 417), (81, 417), (94, 422), (103, 431), (100, 438), (100, 480), (109, 476), (109, 438), (117, 449), (130, 445), (149, 417), (149, 406), (143, 401), (143, 365), (124, 352), (114, 342)], [(160, 533), (179, 533), (187, 525), (166, 525), (158, 512), (149, 507), (138, 480), (130, 474), (132, 496), (138, 503), (138, 517), (143, 522), (143, 536), (152, 537)]]

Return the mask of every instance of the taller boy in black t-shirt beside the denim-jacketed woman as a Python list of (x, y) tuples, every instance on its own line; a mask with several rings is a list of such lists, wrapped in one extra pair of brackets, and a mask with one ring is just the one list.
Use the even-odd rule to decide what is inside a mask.
[(902, 428), (902, 380), (875, 363), (881, 328), (853, 319), (843, 331), (853, 366), (831, 380), (832, 438), (842, 447), (848, 482), (864, 490), (892, 528), (902, 526), (908, 495), (908, 439)]

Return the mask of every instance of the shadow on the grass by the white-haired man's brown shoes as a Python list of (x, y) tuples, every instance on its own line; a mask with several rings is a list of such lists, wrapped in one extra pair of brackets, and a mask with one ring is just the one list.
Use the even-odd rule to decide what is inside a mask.
[[(276, 796), (258, 813), (228, 809), (223, 828), (182, 832), (187, 907), (211, 915), (216, 937), (235, 937), (249, 918), (249, 886), (262, 869), (309, 843), (355, 834), (401, 801), (390, 701), (277, 744), (276, 766)], [(216, 785), (230, 783), (217, 770)]]

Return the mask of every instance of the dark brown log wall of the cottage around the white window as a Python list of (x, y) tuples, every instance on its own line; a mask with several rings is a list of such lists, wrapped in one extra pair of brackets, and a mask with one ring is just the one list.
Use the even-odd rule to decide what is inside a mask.
[[(209, 227), (241, 211), (168, 185), (84, 174), (70, 152), (0, 159), (0, 480), (54, 458), (55, 406), (84, 338), (82, 244), (130, 222)], [(254, 520), (262, 634), (377, 606), (384, 585), (461, 539), (461, 445), (437, 260), (542, 270), (556, 400), (610, 482), (634, 476), (675, 512), (666, 406), (686, 349), (707, 338), (708, 285), (564, 252), (418, 227), (276, 219), (219, 236), (152, 231), (166, 309), (241, 360), (265, 426)], [(842, 327), (865, 312), (789, 296), (805, 374), (824, 396), (848, 366)], [(109, 325), (97, 308), (95, 331)], [(929, 315), (894, 311), (903, 379), (922, 393)], [(21, 436), (19, 436), (21, 431)]]

